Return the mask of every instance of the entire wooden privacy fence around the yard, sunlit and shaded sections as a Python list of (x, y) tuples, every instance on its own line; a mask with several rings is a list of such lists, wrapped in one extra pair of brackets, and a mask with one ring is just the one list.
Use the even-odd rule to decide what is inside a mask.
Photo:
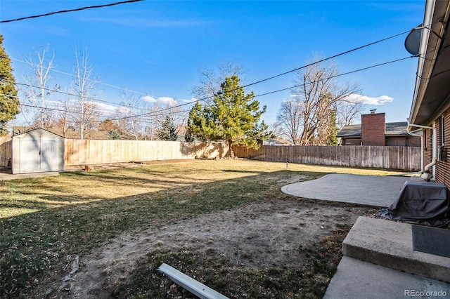
[[(0, 138), (2, 167), (8, 166), (12, 157), (11, 144), (11, 137)], [(263, 145), (258, 150), (237, 146), (233, 150), (237, 157), (262, 161), (420, 171), (420, 147)], [(224, 157), (227, 152), (224, 143), (65, 139), (64, 159), (65, 166), (71, 166)]]

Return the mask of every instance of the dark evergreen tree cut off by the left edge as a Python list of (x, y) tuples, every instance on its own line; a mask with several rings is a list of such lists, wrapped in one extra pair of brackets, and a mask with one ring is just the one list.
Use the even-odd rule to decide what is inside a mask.
[(15, 119), (15, 114), (20, 113), (11, 59), (6, 55), (3, 40), (3, 35), (0, 34), (0, 135), (8, 133), (6, 123)]

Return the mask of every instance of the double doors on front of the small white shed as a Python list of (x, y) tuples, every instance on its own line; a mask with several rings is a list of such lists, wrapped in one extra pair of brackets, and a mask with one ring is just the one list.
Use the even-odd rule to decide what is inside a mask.
[(25, 139), (20, 142), (20, 173), (59, 171), (58, 142), (54, 139)]

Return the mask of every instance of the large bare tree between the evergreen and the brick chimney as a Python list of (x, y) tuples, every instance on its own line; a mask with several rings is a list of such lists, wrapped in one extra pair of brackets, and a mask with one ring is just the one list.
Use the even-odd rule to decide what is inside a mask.
[(339, 84), (337, 76), (333, 64), (315, 63), (297, 72), (293, 98), (283, 102), (277, 117), (295, 144), (328, 144), (328, 134), (335, 132), (336, 126), (330, 117), (338, 113), (340, 103), (359, 91), (356, 84)]

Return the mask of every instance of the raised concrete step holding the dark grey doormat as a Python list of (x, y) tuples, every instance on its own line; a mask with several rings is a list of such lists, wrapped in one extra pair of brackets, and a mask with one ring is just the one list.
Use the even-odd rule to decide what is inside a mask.
[(361, 216), (342, 243), (342, 254), (450, 283), (450, 258), (414, 251), (408, 223)]

